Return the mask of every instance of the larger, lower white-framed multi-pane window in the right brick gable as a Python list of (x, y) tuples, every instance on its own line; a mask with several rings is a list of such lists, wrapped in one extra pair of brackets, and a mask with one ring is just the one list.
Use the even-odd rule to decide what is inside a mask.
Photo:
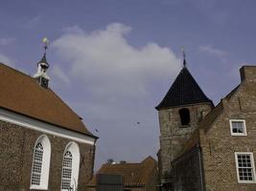
[(235, 153), (239, 183), (256, 183), (253, 153)]

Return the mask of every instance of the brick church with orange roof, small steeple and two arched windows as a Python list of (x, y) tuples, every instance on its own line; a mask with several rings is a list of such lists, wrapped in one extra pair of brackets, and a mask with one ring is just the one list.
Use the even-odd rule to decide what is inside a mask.
[(48, 68), (46, 52), (33, 77), (0, 63), (0, 190), (82, 191), (92, 178), (97, 137), (51, 90)]

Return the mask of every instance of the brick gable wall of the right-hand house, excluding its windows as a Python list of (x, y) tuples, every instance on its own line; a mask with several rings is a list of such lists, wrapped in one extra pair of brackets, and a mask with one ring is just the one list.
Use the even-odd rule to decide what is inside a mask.
[[(255, 191), (255, 183), (238, 183), (235, 161), (235, 152), (253, 152), (256, 159), (255, 82), (243, 81), (222, 105), (223, 111), (211, 127), (200, 130), (206, 190)], [(247, 136), (231, 136), (229, 119), (245, 119)]]

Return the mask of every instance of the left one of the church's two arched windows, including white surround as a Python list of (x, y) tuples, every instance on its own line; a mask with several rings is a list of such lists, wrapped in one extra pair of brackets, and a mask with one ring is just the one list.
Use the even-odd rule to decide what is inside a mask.
[(51, 143), (45, 135), (35, 141), (31, 189), (48, 189)]

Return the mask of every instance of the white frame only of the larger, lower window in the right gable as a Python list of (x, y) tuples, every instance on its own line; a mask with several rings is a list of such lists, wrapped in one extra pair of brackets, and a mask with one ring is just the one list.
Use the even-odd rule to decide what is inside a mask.
[[(239, 165), (238, 165), (238, 156), (239, 155), (249, 155), (250, 156), (253, 180), (240, 180)], [(238, 182), (239, 183), (256, 183), (255, 163), (254, 163), (253, 153), (252, 152), (235, 152), (235, 160), (236, 160), (236, 170), (237, 170)]]

